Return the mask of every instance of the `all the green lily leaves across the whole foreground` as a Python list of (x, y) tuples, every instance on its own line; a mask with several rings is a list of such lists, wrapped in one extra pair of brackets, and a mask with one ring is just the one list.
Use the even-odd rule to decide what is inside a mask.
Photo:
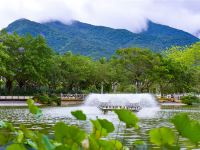
[[(27, 101), (29, 111), (35, 117), (40, 119), (42, 111), (34, 105), (34, 101)], [(120, 123), (125, 124), (125, 128), (129, 130), (142, 130), (138, 126), (139, 119), (129, 110), (116, 110), (119, 119), (117, 130), (112, 122), (107, 119), (88, 119), (80, 110), (71, 112), (77, 120), (78, 124), (69, 125), (64, 122), (57, 122), (53, 129), (53, 135), (43, 133), (42, 131), (33, 131), (21, 124), (19, 128), (15, 128), (11, 123), (0, 121), (0, 148), (6, 150), (128, 150), (130, 149), (151, 149), (152, 145), (141, 140), (134, 141), (132, 146), (126, 147), (123, 139), (110, 139), (108, 135), (114, 131), (118, 134)], [(80, 122), (90, 121), (92, 131), (87, 133), (79, 125)], [(200, 142), (200, 123), (192, 120), (187, 114), (178, 114), (171, 118), (171, 125), (175, 129), (169, 127), (159, 127), (150, 129), (149, 141), (160, 149), (182, 149), (190, 146), (190, 148), (199, 148)], [(136, 132), (137, 133), (137, 132)], [(185, 138), (186, 145), (180, 144), (180, 137)]]

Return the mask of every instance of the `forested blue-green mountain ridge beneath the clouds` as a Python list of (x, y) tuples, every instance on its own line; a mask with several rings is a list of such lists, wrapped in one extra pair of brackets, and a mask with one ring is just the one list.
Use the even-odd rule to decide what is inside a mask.
[(72, 21), (70, 24), (59, 21), (37, 23), (27, 19), (16, 20), (6, 29), (20, 35), (41, 34), (48, 45), (59, 53), (72, 51), (93, 57), (109, 57), (116, 49), (125, 47), (145, 47), (160, 52), (171, 46), (185, 46), (199, 41), (187, 32), (151, 21), (148, 22), (148, 29), (141, 33), (79, 21)]

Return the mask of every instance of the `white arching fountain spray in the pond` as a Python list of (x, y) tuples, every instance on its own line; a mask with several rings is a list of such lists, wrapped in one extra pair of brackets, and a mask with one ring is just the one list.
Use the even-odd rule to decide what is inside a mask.
[[(139, 117), (152, 117), (159, 110), (156, 98), (152, 94), (90, 94), (86, 97), (84, 106), (99, 107), (102, 104), (126, 107), (138, 104), (142, 109), (137, 113)], [(136, 110), (137, 111), (137, 110)]]

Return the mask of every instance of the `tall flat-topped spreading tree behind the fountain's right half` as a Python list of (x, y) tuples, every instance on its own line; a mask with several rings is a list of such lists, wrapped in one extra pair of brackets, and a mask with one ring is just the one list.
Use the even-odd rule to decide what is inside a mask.
[(148, 91), (155, 81), (154, 68), (160, 64), (160, 56), (148, 49), (126, 48), (118, 50), (117, 57), (137, 92)]

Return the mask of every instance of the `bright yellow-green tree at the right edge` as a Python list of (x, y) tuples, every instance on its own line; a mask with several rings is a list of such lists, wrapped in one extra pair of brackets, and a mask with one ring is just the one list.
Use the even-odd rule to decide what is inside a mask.
[[(190, 86), (190, 91), (199, 92), (200, 86), (200, 42), (188, 47), (172, 47), (164, 52), (164, 57), (179, 63), (177, 69), (182, 68), (181, 82)], [(178, 81), (178, 80), (176, 80)], [(178, 85), (179, 87), (182, 85)], [(188, 88), (189, 88), (188, 86)]]

